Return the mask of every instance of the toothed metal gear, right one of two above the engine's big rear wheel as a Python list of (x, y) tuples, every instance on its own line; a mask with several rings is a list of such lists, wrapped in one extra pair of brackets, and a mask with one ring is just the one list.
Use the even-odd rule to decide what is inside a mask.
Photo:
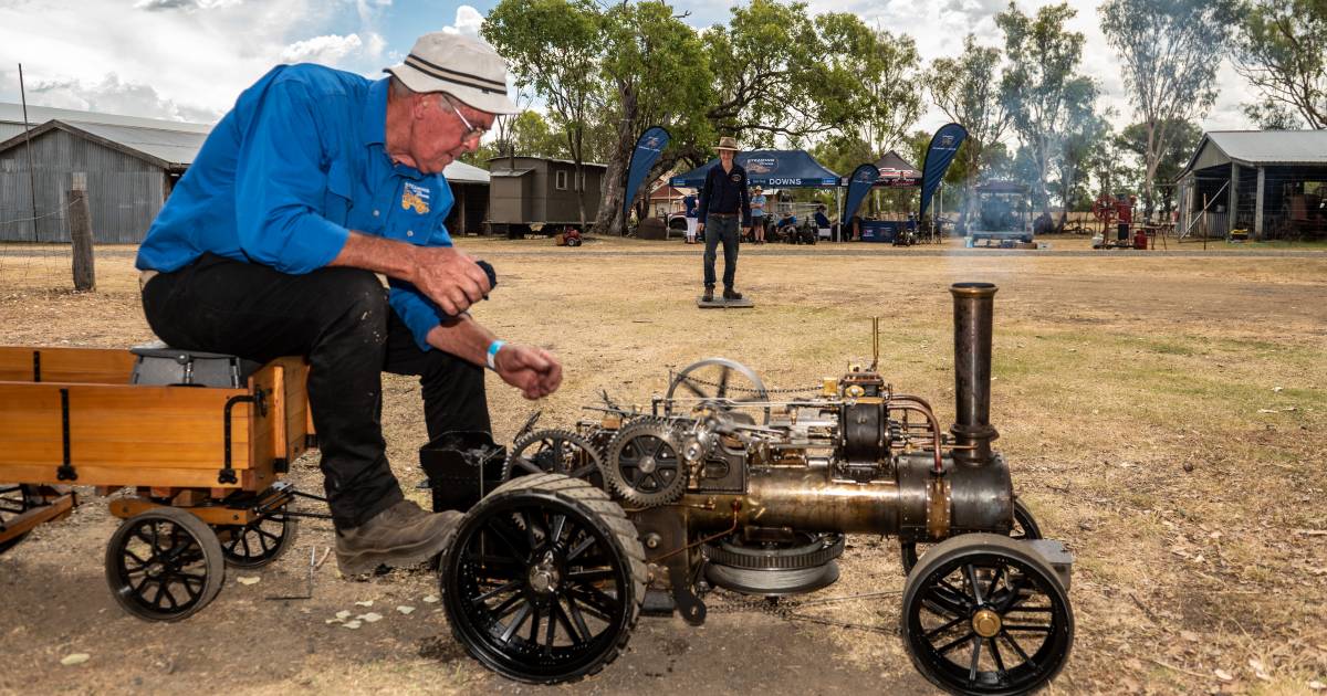
[(624, 426), (604, 459), (604, 480), (629, 505), (667, 505), (686, 491), (681, 437), (667, 420), (642, 418)]

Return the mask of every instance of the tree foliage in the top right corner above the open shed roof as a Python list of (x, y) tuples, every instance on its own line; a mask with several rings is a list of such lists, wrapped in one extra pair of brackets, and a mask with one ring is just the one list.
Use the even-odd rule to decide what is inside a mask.
[(1327, 3), (1245, 0), (1234, 65), (1263, 98), (1327, 129)]

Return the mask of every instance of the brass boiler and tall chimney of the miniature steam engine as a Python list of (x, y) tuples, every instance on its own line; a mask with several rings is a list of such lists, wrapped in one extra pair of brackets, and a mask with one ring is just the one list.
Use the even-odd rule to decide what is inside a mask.
[[(837, 476), (829, 464), (752, 467), (744, 493), (686, 494), (679, 505), (687, 526), (701, 532), (759, 526), (888, 534), (904, 541), (1009, 533), (1013, 483), (1003, 457), (990, 448), (998, 436), (989, 423), (995, 285), (954, 284), (950, 293), (958, 407), (947, 452), (890, 455), (881, 448), (888, 460), (878, 464), (892, 475), (865, 483)], [(882, 407), (889, 408), (889, 403), (886, 396)]]

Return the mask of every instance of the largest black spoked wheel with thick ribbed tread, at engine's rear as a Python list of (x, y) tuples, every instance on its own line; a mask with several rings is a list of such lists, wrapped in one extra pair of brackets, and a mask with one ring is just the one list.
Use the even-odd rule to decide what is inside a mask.
[(442, 561), (443, 607), (471, 655), (508, 679), (592, 675), (626, 647), (645, 598), (645, 550), (608, 494), (523, 476), (471, 509)]

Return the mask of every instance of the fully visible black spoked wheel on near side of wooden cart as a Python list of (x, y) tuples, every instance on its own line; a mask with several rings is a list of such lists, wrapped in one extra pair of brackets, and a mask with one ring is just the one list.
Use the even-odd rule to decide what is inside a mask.
[(106, 582), (130, 614), (147, 620), (180, 620), (203, 609), (226, 581), (216, 534), (178, 508), (137, 514), (106, 545)]

